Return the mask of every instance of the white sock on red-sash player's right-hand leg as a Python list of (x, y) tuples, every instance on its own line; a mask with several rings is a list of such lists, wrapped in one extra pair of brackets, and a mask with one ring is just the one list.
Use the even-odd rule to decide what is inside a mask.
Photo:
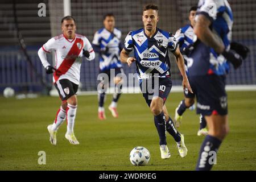
[(72, 134), (74, 132), (75, 118), (76, 118), (77, 105), (73, 106), (68, 104), (67, 107), (67, 133)]

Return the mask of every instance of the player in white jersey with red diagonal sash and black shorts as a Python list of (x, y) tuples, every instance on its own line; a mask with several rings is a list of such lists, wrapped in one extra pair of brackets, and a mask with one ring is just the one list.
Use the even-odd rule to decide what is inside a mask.
[[(61, 99), (60, 109), (57, 111), (55, 121), (48, 125), (50, 142), (56, 145), (57, 130), (67, 118), (67, 133), (65, 138), (71, 144), (79, 144), (73, 128), (77, 110), (76, 92), (80, 81), (80, 68), (82, 56), (87, 60), (93, 60), (95, 53), (85, 36), (75, 34), (76, 20), (72, 16), (65, 16), (61, 20), (63, 34), (51, 38), (38, 51), (38, 55), (46, 73), (53, 73), (53, 83), (59, 92)], [(52, 67), (46, 57), (46, 53), (55, 52), (56, 65)]]

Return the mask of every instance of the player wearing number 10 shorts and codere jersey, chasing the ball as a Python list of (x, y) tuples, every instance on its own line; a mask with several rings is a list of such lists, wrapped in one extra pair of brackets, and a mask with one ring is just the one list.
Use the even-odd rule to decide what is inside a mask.
[[(183, 76), (183, 88), (188, 88), (189, 92), (192, 92), (185, 73), (184, 59), (174, 35), (157, 27), (158, 6), (152, 4), (144, 6), (142, 20), (144, 28), (131, 31), (126, 36), (121, 61), (129, 66), (133, 62), (137, 65), (143, 97), (154, 115), (155, 127), (160, 138), (161, 158), (168, 159), (171, 156), (167, 147), (166, 131), (175, 139), (179, 154), (183, 158), (188, 151), (184, 136), (175, 129), (164, 103), (172, 87), (168, 50), (176, 57), (176, 63)], [(133, 49), (134, 57), (129, 57)], [(152, 86), (153, 92), (147, 85)]]

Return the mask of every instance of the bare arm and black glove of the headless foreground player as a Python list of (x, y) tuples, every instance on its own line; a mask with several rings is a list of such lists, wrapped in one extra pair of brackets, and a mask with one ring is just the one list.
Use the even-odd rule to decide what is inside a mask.
[(242, 64), (242, 57), (236, 51), (231, 49), (226, 50), (220, 38), (214, 36), (213, 32), (210, 30), (210, 24), (212, 24), (210, 19), (211, 17), (208, 14), (198, 15), (194, 28), (197, 38), (207, 46), (212, 47), (217, 53), (222, 54), (234, 65), (234, 68), (237, 69)]

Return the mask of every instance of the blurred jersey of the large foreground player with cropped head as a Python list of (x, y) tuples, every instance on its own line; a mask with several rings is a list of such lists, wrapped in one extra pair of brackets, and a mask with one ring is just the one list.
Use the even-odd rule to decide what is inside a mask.
[[(230, 48), (232, 38), (233, 14), (226, 0), (200, 0), (196, 20), (199, 14), (205, 15), (210, 22), (213, 34), (222, 40), (226, 49)], [(188, 63), (189, 75), (225, 75), (229, 64), (224, 56), (218, 55), (213, 48), (200, 42), (196, 43)]]

